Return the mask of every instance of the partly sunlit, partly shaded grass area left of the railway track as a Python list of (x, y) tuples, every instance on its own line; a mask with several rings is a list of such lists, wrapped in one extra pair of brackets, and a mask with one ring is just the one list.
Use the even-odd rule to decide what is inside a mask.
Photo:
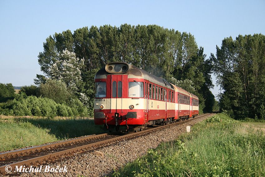
[(0, 116), (0, 151), (104, 132), (91, 118)]

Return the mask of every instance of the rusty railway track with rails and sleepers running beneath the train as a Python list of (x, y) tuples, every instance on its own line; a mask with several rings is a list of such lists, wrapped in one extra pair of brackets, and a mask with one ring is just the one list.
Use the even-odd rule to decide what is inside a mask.
[[(128, 134), (113, 134), (104, 133), (100, 135), (92, 135), (82, 138), (77, 138), (73, 140), (66, 140), (56, 143), (51, 143), (47, 145), (41, 145), (21, 150), (9, 151), (0, 154), (0, 174), (6, 174), (6, 167), (10, 166), (15, 169), (16, 166), (30, 166), (36, 164), (42, 164), (44, 162), (52, 161), (60, 158), (61, 156), (67, 156), (74, 154), (79, 151), (86, 151), (92, 147), (99, 147), (102, 145), (108, 145), (119, 140), (124, 140), (128, 138), (135, 138), (139, 135), (144, 135), (146, 133), (151, 133), (152, 131), (165, 128), (167, 126), (183, 124), (191, 120), (195, 120), (204, 116), (208, 116), (212, 113), (203, 114), (195, 118), (191, 118), (184, 121), (179, 121), (176, 123), (158, 126), (155, 128), (149, 128), (136, 133)], [(8, 174), (9, 175), (9, 174)]]

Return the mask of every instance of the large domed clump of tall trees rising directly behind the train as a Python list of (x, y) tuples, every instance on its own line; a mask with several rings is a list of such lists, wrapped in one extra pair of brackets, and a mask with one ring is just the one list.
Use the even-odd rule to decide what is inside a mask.
[(89, 110), (93, 109), (95, 73), (112, 61), (127, 62), (166, 79), (189, 80), (199, 94), (200, 108), (213, 110), (212, 63), (190, 33), (157, 25), (92, 26), (73, 34), (70, 30), (55, 33), (43, 48), (38, 61), (45, 76), (37, 75), (35, 83), (62, 80)]

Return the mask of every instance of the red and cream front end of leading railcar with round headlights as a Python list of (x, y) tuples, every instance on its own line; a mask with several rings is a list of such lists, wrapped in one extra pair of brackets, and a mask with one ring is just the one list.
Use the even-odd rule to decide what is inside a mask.
[(131, 65), (108, 63), (95, 76), (94, 122), (110, 129), (145, 124), (144, 79)]

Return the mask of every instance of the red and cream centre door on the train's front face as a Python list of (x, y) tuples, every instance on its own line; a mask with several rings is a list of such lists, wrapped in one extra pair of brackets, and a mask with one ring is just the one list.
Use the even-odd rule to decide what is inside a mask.
[(111, 112), (127, 112), (128, 75), (111, 75)]

